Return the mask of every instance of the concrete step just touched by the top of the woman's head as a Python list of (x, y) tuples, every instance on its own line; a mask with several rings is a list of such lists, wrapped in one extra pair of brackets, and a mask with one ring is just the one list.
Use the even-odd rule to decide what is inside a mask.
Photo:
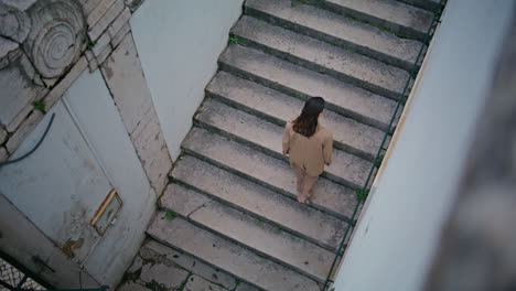
[(396, 107), (394, 100), (241, 45), (229, 45), (218, 62), (223, 71), (291, 96), (321, 96), (329, 109), (379, 129), (388, 127)]

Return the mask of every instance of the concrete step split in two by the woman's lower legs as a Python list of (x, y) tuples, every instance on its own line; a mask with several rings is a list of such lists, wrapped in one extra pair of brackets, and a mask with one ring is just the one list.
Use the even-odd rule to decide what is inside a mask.
[[(292, 200), (297, 197), (294, 174), (290, 165), (281, 160), (201, 128), (193, 128), (182, 147), (186, 153), (198, 159)], [(341, 219), (351, 217), (356, 203), (355, 191), (320, 177), (313, 193), (313, 207)]]

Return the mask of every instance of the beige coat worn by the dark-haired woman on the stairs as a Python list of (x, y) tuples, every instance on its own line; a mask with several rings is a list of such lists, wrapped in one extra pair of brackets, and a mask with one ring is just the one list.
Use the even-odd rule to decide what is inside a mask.
[(333, 136), (319, 125), (315, 133), (307, 138), (295, 132), (292, 121), (287, 122), (283, 131), (283, 154), (289, 154), (290, 164), (303, 168), (308, 175), (319, 176), (324, 164), (332, 163)]

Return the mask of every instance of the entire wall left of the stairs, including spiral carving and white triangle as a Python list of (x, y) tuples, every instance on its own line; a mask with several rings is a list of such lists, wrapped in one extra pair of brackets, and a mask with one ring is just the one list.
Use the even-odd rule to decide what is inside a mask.
[[(0, 194), (33, 224), (0, 246), (29, 262), (17, 245), (45, 237), (55, 245), (39, 249), (45, 262), (60, 263), (52, 259), (60, 250), (72, 266), (46, 274), (57, 288), (76, 287), (80, 268), (97, 283), (118, 283), (241, 3), (0, 0), (8, 24), (0, 28), (0, 162), (31, 150), (55, 114), (33, 154), (0, 168)], [(122, 206), (100, 235), (90, 219), (111, 190)]]

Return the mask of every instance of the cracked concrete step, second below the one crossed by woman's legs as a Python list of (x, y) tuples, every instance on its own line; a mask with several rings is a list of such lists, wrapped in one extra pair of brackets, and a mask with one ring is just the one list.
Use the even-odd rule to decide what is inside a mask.
[(283, 231), (179, 184), (170, 184), (161, 206), (232, 242), (324, 282), (335, 252)]

